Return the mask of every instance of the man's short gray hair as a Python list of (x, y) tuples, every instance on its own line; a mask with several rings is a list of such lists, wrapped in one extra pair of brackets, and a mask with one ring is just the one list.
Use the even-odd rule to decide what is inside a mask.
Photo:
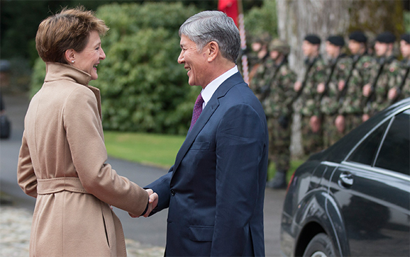
[(193, 41), (198, 50), (215, 41), (218, 43), (222, 57), (236, 63), (241, 37), (234, 20), (219, 10), (205, 10), (186, 20), (179, 28), (179, 36), (185, 35)]

